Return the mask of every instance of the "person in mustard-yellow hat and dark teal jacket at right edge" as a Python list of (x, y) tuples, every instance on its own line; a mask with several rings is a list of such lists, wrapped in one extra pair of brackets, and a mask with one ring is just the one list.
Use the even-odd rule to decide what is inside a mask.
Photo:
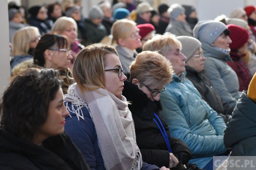
[[(255, 156), (255, 109), (256, 109), (256, 74), (254, 74), (248, 91), (243, 91), (227, 124), (224, 144), (232, 148), (230, 156)], [(248, 145), (250, 144), (250, 145)]]

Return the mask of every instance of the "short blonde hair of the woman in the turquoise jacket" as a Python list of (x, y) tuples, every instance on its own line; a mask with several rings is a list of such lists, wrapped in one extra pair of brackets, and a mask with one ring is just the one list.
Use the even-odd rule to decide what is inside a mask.
[(163, 35), (156, 34), (152, 39), (147, 40), (143, 45), (143, 51), (158, 51), (167, 57), (168, 53), (176, 48), (181, 49), (181, 42), (174, 34), (166, 32)]

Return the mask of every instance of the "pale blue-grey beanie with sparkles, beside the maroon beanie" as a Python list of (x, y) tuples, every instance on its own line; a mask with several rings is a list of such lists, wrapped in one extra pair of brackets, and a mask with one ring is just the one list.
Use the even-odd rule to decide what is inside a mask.
[(211, 45), (226, 29), (228, 28), (223, 22), (205, 20), (196, 24), (193, 34), (200, 42)]

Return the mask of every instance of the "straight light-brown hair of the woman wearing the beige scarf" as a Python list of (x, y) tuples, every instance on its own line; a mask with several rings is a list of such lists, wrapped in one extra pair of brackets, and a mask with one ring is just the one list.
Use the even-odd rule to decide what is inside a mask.
[(82, 49), (75, 58), (71, 68), (72, 76), (81, 91), (92, 91), (105, 88), (106, 54), (117, 51), (111, 45), (91, 44)]

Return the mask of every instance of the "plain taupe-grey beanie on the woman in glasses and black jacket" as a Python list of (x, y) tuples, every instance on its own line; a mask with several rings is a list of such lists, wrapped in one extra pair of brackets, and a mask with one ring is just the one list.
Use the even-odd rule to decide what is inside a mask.
[(181, 52), (187, 57), (185, 63), (195, 54), (195, 52), (202, 46), (200, 41), (194, 37), (190, 36), (177, 36), (179, 41), (181, 41), (182, 49)]

